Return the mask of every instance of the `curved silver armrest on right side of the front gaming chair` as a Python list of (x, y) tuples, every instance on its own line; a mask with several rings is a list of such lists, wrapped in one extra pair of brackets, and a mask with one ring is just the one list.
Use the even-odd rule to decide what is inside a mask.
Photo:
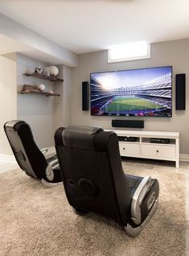
[(134, 196), (131, 202), (131, 219), (134, 224), (139, 225), (141, 223), (141, 208), (142, 200), (149, 192), (151, 188), (151, 177), (148, 175), (139, 184), (137, 190), (134, 192)]

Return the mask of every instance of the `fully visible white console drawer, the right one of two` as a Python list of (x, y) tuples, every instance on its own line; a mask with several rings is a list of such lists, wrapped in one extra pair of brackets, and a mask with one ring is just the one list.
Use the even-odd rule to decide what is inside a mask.
[(176, 147), (162, 145), (142, 145), (142, 156), (157, 159), (175, 159)]

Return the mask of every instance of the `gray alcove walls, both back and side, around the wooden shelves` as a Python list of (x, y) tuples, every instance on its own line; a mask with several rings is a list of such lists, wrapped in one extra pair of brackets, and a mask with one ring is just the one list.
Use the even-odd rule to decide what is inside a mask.
[(52, 90), (60, 94), (60, 97), (18, 94), (17, 118), (31, 126), (39, 148), (53, 146), (55, 130), (70, 124), (71, 68), (56, 65), (59, 68), (59, 77), (64, 79), (64, 82), (51, 82), (32, 76), (23, 76), (24, 72), (33, 72), (36, 67), (43, 68), (49, 65), (51, 64), (17, 54), (18, 90), (25, 84), (43, 84), (46, 87), (45, 91)]

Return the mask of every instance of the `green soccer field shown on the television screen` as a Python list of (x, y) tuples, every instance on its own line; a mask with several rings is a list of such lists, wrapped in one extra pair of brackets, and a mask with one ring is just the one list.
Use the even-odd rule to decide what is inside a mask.
[(139, 109), (160, 109), (162, 105), (154, 104), (150, 101), (145, 101), (141, 97), (115, 97), (109, 105), (106, 105), (105, 111), (124, 111), (139, 110)]

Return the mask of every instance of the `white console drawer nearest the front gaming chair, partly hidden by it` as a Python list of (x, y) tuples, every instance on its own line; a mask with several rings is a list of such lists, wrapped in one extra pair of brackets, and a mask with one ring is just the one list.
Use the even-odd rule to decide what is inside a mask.
[(119, 142), (119, 149), (121, 156), (139, 156), (140, 147), (139, 144), (128, 143), (128, 142)]

